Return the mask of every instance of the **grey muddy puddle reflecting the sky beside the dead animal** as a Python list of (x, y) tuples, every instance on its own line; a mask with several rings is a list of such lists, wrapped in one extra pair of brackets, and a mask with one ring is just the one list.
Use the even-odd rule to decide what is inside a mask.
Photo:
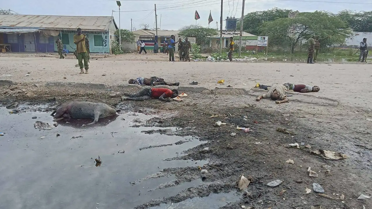
[[(154, 115), (122, 112), (94, 125), (82, 126), (92, 120), (70, 120), (58, 122), (52, 130), (39, 130), (33, 127), (36, 121), (55, 123), (50, 112), (9, 114), (9, 111), (0, 108), (0, 132), (5, 133), (0, 136), (1, 208), (134, 208), (202, 183), (200, 179), (172, 185), (169, 182), (175, 179), (173, 174), (151, 177), (164, 168), (208, 163), (164, 161), (203, 142), (192, 136), (141, 132), (154, 127), (130, 127), (136, 124), (133, 121), (145, 121)], [(35, 116), (37, 119), (32, 119)], [(175, 144), (181, 140), (187, 142)], [(143, 147), (147, 148), (140, 150)], [(96, 167), (94, 159), (98, 156), (102, 164)], [(161, 186), (164, 184), (170, 186)], [(195, 205), (191, 208), (203, 208), (201, 200), (184, 203)]]

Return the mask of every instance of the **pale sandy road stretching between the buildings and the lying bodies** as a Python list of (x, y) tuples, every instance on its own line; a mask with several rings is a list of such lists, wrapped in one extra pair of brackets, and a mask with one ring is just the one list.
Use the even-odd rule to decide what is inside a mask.
[[(190, 82), (198, 81), (199, 86), (208, 88), (231, 85), (235, 88), (248, 89), (256, 82), (266, 85), (291, 82), (320, 86), (320, 92), (308, 94), (337, 99), (350, 106), (372, 109), (372, 90), (368, 88), (368, 83), (372, 79), (371, 65), (164, 62), (167, 55), (163, 53), (141, 55), (134, 53), (105, 55), (106, 57), (92, 55), (89, 63), (90, 73), (80, 75), (79, 68), (75, 67), (76, 59), (57, 59), (54, 55), (38, 56), (47, 57), (0, 56), (0, 79), (32, 83), (66, 81), (116, 85), (127, 84), (130, 78), (158, 76), (166, 81), (180, 82), (182, 86), (189, 86)], [(28, 72), (31, 74), (25, 76)], [(224, 85), (217, 84), (220, 79), (225, 79)]]

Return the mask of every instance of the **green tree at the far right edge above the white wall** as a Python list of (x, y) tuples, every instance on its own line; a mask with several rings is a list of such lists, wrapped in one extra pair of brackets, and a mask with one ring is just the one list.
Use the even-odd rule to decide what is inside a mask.
[(342, 10), (337, 16), (347, 23), (347, 26), (357, 32), (372, 32), (372, 11), (353, 12)]

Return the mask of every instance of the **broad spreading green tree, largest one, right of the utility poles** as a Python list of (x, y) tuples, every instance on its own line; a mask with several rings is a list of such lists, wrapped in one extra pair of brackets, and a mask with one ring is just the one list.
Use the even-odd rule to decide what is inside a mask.
[(347, 23), (327, 12), (303, 12), (294, 18), (279, 18), (263, 23), (262, 35), (269, 36), (269, 42), (282, 47), (292, 46), (291, 51), (300, 41), (307, 40), (314, 33), (320, 37), (330, 37), (321, 46), (342, 44), (351, 35)]

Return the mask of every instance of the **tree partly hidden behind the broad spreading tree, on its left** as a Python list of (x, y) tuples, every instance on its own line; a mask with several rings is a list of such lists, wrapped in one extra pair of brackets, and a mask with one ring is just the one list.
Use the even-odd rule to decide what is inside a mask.
[[(253, 35), (260, 35), (260, 27), (264, 22), (277, 20), (288, 17), (292, 10), (273, 8), (270, 10), (250, 12), (244, 16), (243, 30)], [(240, 29), (240, 21), (238, 21), (237, 28)]]

